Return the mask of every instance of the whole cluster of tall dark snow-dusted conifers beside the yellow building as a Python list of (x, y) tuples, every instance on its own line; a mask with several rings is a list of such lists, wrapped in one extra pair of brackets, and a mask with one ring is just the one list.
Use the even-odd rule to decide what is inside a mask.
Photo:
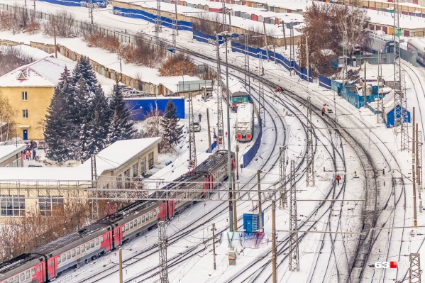
[(87, 160), (116, 140), (133, 137), (129, 116), (118, 82), (106, 99), (89, 58), (82, 56), (72, 76), (65, 67), (55, 87), (45, 123), (46, 156), (57, 162)]

